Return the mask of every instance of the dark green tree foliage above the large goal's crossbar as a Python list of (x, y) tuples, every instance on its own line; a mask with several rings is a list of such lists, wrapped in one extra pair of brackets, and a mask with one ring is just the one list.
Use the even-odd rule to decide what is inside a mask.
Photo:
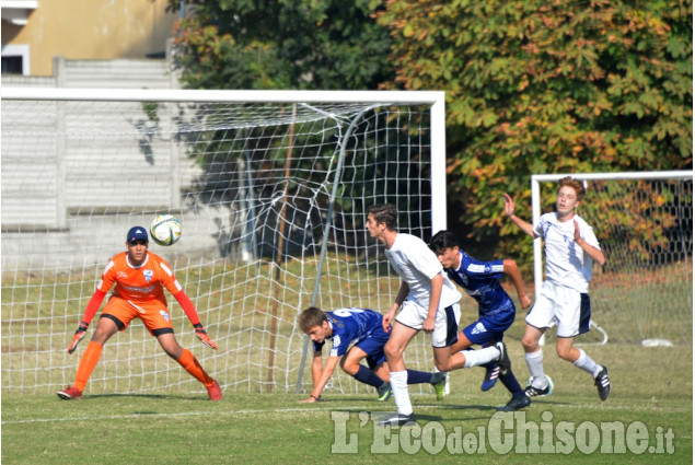
[[(186, 0), (176, 60), (193, 89), (378, 89), (391, 38), (374, 0)], [(179, 2), (170, 1), (177, 10)]]

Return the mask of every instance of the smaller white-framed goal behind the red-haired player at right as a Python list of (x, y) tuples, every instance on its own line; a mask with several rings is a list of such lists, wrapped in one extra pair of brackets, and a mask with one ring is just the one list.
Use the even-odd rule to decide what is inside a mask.
[[(554, 211), (557, 181), (534, 175), (534, 222)], [(693, 344), (693, 172), (572, 174), (587, 189), (578, 214), (593, 226), (606, 256), (594, 266), (593, 332), (579, 344)], [(536, 292), (542, 242), (534, 242)], [(593, 333), (593, 335), (592, 335)]]

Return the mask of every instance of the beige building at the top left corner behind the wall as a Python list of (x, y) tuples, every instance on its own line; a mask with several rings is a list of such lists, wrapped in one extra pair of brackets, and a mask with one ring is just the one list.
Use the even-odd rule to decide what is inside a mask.
[(169, 0), (0, 0), (2, 73), (53, 75), (68, 60), (163, 58)]

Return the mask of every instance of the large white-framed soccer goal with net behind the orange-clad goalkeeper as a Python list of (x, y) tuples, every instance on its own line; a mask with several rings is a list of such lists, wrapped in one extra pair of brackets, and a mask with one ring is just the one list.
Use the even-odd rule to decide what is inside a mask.
[[(169, 297), (177, 338), (244, 392), (311, 387), (304, 307), (391, 306), (398, 279), (366, 233), (369, 205), (395, 204), (399, 229), (426, 241), (447, 226), (443, 92), (1, 93), (3, 392), (72, 383), (86, 345), (66, 348), (103, 267), (159, 213), (183, 235), (150, 249), (220, 350)], [(407, 362), (431, 370), (429, 342), (414, 342)], [(328, 388), (364, 390), (343, 373)], [(88, 385), (166, 390), (201, 387), (139, 321), (108, 341)]]

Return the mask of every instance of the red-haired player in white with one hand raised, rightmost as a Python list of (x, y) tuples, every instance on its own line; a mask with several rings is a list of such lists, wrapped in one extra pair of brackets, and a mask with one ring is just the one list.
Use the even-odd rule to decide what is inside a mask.
[(545, 243), (545, 281), (538, 300), (526, 315), (526, 330), (521, 341), (532, 376), (525, 393), (529, 397), (549, 394), (538, 341), (548, 327), (557, 324), (558, 356), (591, 373), (601, 400), (605, 400), (611, 394), (609, 370), (574, 345), (576, 336), (589, 330), (591, 270), (594, 261), (605, 264), (605, 256), (591, 226), (575, 213), (584, 196), (584, 186), (570, 176), (558, 184), (556, 211), (543, 214), (535, 225), (514, 214), (514, 201), (505, 194), (507, 216), (523, 232), (533, 239), (543, 237)]

